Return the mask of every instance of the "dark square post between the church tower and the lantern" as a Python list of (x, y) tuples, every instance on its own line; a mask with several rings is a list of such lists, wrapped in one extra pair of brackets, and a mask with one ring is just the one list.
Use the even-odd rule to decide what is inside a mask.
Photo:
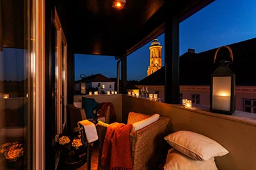
[(164, 65), (165, 84), (164, 102), (179, 104), (179, 17), (172, 10), (170, 1), (166, 1), (164, 25)]

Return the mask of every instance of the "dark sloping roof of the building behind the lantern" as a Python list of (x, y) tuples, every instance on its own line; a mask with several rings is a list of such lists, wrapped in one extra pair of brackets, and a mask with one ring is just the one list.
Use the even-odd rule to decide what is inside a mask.
[[(230, 69), (236, 73), (236, 85), (256, 85), (256, 38), (228, 45), (233, 52), (234, 62)], [(180, 55), (180, 85), (210, 85), (211, 73), (218, 67), (213, 64), (214, 53), (217, 48), (201, 53), (186, 52)], [(221, 48), (217, 55), (217, 62), (229, 57), (228, 50)], [(141, 80), (138, 85), (164, 85), (164, 66), (150, 76)]]

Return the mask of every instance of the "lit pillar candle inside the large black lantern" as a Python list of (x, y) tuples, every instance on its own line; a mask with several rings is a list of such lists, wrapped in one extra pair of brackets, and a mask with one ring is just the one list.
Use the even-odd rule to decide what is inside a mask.
[(230, 111), (230, 96), (225, 94), (212, 96), (212, 109)]

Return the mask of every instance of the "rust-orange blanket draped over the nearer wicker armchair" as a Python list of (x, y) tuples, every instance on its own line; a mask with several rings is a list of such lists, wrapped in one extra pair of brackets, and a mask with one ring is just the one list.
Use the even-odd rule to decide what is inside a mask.
[(102, 148), (101, 164), (111, 170), (132, 170), (129, 133), (132, 124), (108, 126)]

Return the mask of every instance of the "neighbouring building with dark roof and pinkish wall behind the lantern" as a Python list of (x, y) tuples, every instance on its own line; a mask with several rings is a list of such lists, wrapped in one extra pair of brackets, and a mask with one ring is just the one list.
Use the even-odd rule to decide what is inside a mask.
[[(256, 38), (253, 38), (228, 45), (234, 53), (234, 62), (229, 67), (236, 73), (236, 110), (248, 113), (256, 113), (255, 57), (252, 57), (256, 53), (250, 50), (255, 43)], [(180, 56), (180, 103), (186, 98), (194, 104), (210, 105), (211, 73), (218, 67), (218, 64), (212, 64), (215, 52), (216, 49), (195, 53), (188, 49)], [(219, 60), (230, 59), (227, 51), (220, 50), (219, 53)], [(157, 94), (164, 101), (164, 77), (162, 67), (141, 80), (138, 87), (148, 87), (149, 94)]]

